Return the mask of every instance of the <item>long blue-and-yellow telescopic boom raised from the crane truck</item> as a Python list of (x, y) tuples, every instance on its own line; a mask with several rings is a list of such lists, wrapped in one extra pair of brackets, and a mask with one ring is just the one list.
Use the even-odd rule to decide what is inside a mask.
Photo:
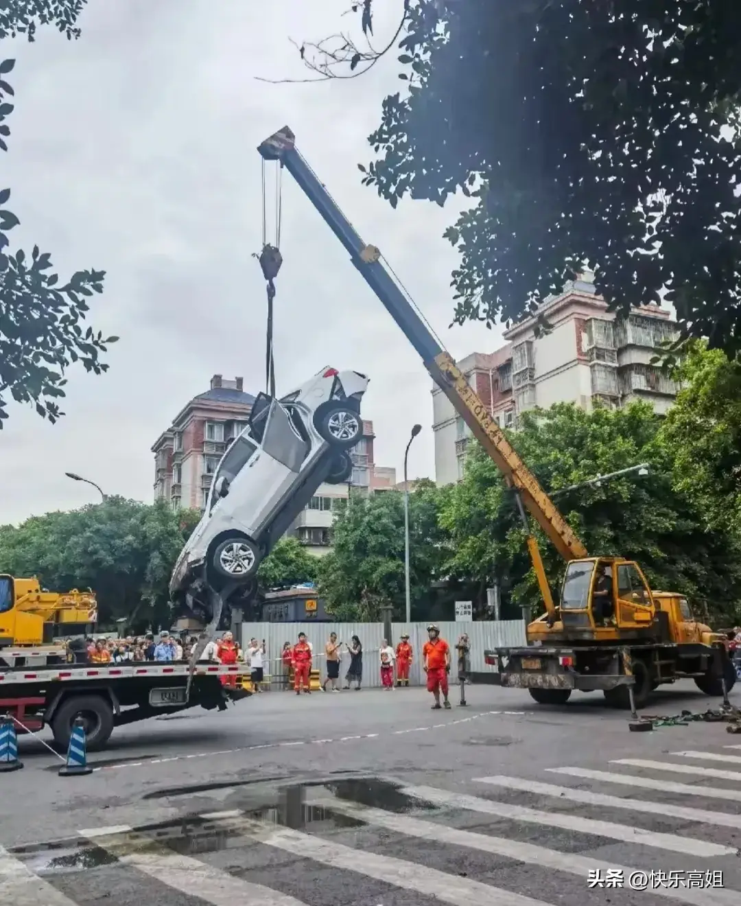
[[(466, 422), (474, 437), (494, 460), (507, 484), (515, 489), (518, 503), (522, 503), (533, 516), (553, 542), (558, 553), (567, 561), (587, 556), (580, 539), (505, 438), (504, 432), (471, 388), (466, 375), (457, 367), (452, 356), (440, 346), (381, 264), (379, 249), (375, 246), (366, 246), (347, 217), (342, 214), (342, 210), (332, 200), (320, 179), (296, 150), (292, 130), (284, 126), (259, 145), (257, 150), (264, 159), (279, 161), (303, 189), (332, 233), (351, 256), (352, 263), (361, 272), (365, 282), (378, 296), (380, 303), (390, 313), (411, 345), (419, 352), (432, 380), (445, 393), (457, 414)], [(544, 591), (546, 607), (551, 612), (553, 602), (550, 600), (547, 582), (544, 582), (543, 565), (534, 538), (528, 541), (528, 547), (534, 559), (538, 581)]]

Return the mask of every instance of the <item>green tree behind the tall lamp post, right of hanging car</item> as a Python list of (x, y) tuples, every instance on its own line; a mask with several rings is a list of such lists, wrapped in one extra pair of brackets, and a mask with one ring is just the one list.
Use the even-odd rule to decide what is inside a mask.
[[(409, 494), (409, 579), (412, 609), (445, 576), (447, 539), (438, 526), (440, 492), (421, 481)], [(319, 564), (319, 593), (339, 620), (378, 620), (390, 604), (403, 616), (404, 496), (384, 491), (353, 495), (333, 527), (331, 553)]]

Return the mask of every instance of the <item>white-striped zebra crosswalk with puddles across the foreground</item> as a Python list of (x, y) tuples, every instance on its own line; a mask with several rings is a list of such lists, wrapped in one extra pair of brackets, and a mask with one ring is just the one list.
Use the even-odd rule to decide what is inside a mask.
[(368, 795), (326, 780), (303, 787), (293, 814), (274, 791), (259, 810), (81, 827), (0, 847), (0, 902), (99, 906), (102, 889), (117, 906), (596, 906), (607, 886), (630, 906), (738, 906), (741, 769), (708, 766), (741, 764), (734, 750), (476, 776), (465, 790), (384, 781), (389, 799), (368, 778)]

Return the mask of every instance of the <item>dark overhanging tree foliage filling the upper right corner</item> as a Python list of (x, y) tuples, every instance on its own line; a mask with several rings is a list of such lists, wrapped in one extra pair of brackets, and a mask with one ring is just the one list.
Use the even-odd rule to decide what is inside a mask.
[(472, 199), (446, 233), (457, 323), (516, 320), (588, 266), (622, 313), (666, 287), (683, 339), (741, 348), (741, 4), (401, 10), (408, 90), (383, 102), (362, 181), (392, 207)]

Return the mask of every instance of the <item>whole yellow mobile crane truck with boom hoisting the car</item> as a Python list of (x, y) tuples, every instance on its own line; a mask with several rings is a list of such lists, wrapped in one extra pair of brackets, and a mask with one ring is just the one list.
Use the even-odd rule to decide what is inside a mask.
[[(527, 627), (525, 648), (486, 652), (498, 668), (475, 681), (528, 689), (543, 704), (563, 704), (573, 689), (601, 689), (619, 707), (640, 707), (660, 683), (691, 677), (708, 695), (730, 689), (736, 673), (719, 637), (694, 620), (688, 602), (674, 593), (653, 593), (640, 566), (622, 557), (590, 557), (553, 501), (524, 465), (495, 419), (381, 263), (366, 245), (295, 147), (286, 126), (257, 149), (288, 170), (351, 256), (370, 289), (419, 352), (430, 376), (481, 443), (515, 496), (527, 547), (543, 596), (545, 614)], [(561, 600), (545, 575), (528, 514), (566, 561)]]

